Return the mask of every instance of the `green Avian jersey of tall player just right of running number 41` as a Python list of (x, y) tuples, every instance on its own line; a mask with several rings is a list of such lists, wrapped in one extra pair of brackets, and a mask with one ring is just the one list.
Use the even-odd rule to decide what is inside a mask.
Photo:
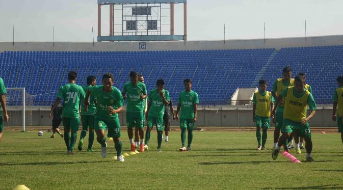
[(146, 87), (144, 83), (138, 82), (137, 85), (133, 85), (131, 82), (127, 82), (124, 85), (123, 92), (126, 92), (127, 105), (126, 112), (143, 112), (145, 102), (141, 98), (142, 94), (146, 94)]

